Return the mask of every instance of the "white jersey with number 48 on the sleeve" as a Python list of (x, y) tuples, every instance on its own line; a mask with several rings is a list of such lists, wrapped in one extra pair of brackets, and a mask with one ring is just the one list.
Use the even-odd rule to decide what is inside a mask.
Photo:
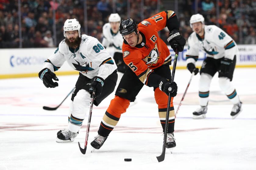
[(238, 54), (236, 42), (215, 25), (204, 26), (204, 39), (201, 39), (195, 32), (189, 36), (187, 63), (195, 64), (198, 60), (199, 50), (204, 51), (207, 57), (214, 59), (225, 57), (233, 60), (234, 56)]

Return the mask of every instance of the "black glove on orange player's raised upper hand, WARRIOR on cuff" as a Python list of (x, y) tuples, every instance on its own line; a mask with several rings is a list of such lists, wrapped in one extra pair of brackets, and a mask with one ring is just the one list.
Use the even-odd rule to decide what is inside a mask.
[(178, 49), (178, 52), (182, 52), (186, 44), (186, 40), (180, 35), (180, 31), (177, 29), (174, 29), (169, 33), (167, 41), (169, 42), (174, 52), (176, 49)]

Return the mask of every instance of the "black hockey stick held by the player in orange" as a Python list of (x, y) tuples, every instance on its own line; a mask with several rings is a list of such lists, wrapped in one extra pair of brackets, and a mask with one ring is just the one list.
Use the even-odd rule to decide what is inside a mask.
[[(173, 80), (174, 80), (178, 54), (179, 54), (179, 52), (176, 49), (174, 63), (173, 63), (173, 67), (172, 67), (172, 81), (171, 82), (173, 82)], [(168, 123), (169, 123), (170, 101), (171, 101), (171, 97), (170, 97), (170, 93), (169, 93), (168, 103), (167, 103), (167, 111), (166, 111), (166, 119), (165, 119), (165, 132), (164, 132), (163, 150), (162, 150), (162, 154), (160, 156), (156, 157), (158, 162), (162, 162), (163, 160), (165, 160), (165, 149), (166, 149), (166, 140), (167, 140)]]

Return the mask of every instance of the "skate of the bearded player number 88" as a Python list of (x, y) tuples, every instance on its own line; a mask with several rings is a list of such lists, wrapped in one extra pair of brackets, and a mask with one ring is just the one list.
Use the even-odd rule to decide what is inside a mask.
[(74, 138), (77, 136), (78, 132), (74, 133), (68, 130), (68, 128), (62, 129), (57, 133), (56, 142), (73, 142)]

